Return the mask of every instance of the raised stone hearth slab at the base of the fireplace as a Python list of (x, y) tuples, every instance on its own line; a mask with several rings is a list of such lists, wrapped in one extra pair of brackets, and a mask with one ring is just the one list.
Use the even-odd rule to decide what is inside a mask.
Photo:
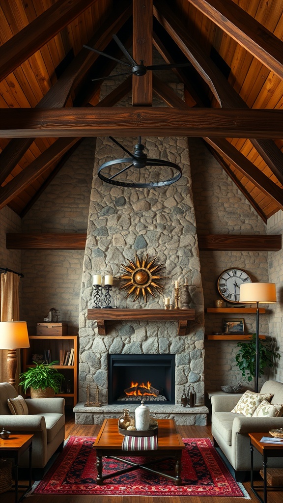
[[(123, 408), (128, 408), (133, 414), (138, 404), (101, 405), (101, 407), (85, 407), (84, 403), (77, 403), (74, 407), (76, 425), (101, 425), (104, 419), (120, 417)], [(181, 407), (181, 405), (151, 405), (151, 415), (157, 419), (175, 419), (177, 425), (206, 426), (208, 408), (205, 405), (195, 407)]]

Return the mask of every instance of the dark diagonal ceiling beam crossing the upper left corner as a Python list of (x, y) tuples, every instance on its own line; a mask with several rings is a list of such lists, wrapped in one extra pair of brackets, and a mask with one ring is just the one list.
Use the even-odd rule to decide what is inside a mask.
[(57, 0), (0, 47), (0, 81), (97, 0)]

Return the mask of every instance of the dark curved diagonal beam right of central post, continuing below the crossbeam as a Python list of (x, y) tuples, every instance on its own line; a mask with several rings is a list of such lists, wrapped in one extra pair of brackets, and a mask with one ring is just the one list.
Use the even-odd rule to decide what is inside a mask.
[[(220, 106), (223, 108), (248, 109), (244, 100), (230, 85), (213, 60), (207, 57), (199, 45), (189, 36), (186, 28), (181, 24), (180, 20), (168, 5), (165, 5), (160, 0), (155, 0), (154, 15), (206, 82)], [(251, 136), (251, 138), (253, 137)], [(279, 182), (283, 184), (283, 153), (274, 143), (273, 139), (271, 139), (271, 137), (269, 138), (270, 139), (265, 139), (264, 141), (253, 138), (251, 141), (263, 157), (269, 169)]]

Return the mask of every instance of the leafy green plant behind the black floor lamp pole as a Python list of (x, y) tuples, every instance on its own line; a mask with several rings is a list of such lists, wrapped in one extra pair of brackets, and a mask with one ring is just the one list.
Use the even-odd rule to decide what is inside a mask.
[[(236, 365), (242, 372), (244, 380), (251, 382), (255, 378), (255, 358), (256, 358), (256, 334), (253, 333), (250, 341), (239, 342), (236, 355)], [(265, 340), (259, 339), (259, 370), (258, 377), (261, 377), (266, 368), (272, 368), (276, 358), (280, 358), (276, 351), (274, 339), (268, 337)]]

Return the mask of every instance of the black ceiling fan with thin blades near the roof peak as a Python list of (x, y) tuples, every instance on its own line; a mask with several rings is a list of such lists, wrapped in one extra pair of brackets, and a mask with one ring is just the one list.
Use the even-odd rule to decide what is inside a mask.
[[(142, 76), (147, 73), (148, 70), (167, 70), (168, 68), (179, 68), (181, 66), (189, 66), (190, 63), (173, 63), (173, 64), (154, 64), (150, 66), (146, 66), (144, 64), (143, 59), (140, 60), (139, 63), (137, 63), (132, 56), (128, 53), (126, 48), (123, 46), (122, 42), (118, 39), (117, 35), (112, 35), (113, 39), (115, 40), (116, 44), (119, 46), (129, 63), (126, 63), (125, 61), (121, 61), (121, 59), (114, 58), (113, 56), (110, 56), (109, 54), (105, 54), (105, 52), (101, 52), (98, 49), (94, 49), (93, 47), (90, 47), (89, 45), (84, 45), (86, 49), (90, 49), (91, 51), (97, 52), (101, 56), (105, 56), (106, 58), (113, 59), (114, 61), (117, 61), (117, 63), (121, 63), (122, 65), (129, 66), (131, 67), (131, 71), (127, 71), (125, 73), (116, 73), (115, 75), (109, 75), (107, 78), (114, 78), (119, 75), (129, 75), (132, 73), (133, 75), (136, 76)], [(92, 80), (102, 80), (105, 79), (105, 77), (99, 77), (99, 78), (93, 78)]]

